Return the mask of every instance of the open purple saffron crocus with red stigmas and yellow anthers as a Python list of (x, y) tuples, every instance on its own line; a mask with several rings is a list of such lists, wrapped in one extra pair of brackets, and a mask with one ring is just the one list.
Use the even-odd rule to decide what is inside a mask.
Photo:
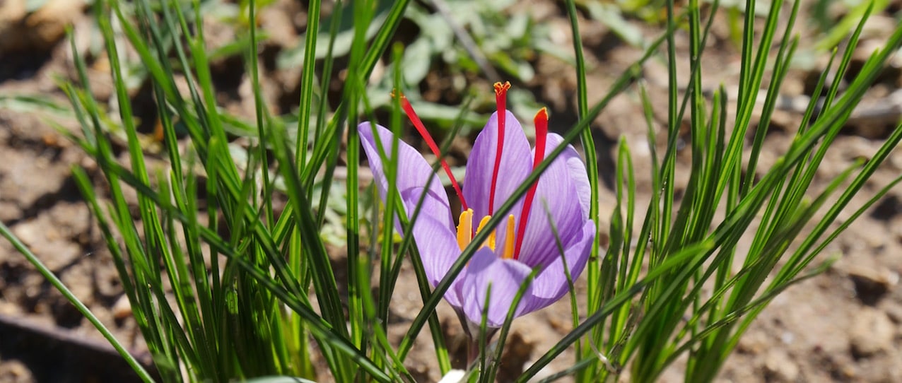
[[(548, 133), (548, 113), (542, 108), (535, 118), (536, 148), (530, 149), (520, 122), (505, 107), (510, 83), (496, 83), (494, 87), (498, 111), (476, 137), (466, 163), (463, 190), (441, 160), (435, 141), (410, 103), (400, 96), (411, 122), (441, 160), (462, 205), (455, 225), (441, 181), (418, 150), (399, 141), (396, 185), (409, 217), (425, 193), (412, 233), (432, 287), (445, 277), (474, 235), (483, 230), (495, 209), (564, 141), (560, 135)], [(386, 153), (384, 157), (391, 155), (392, 134), (374, 123), (361, 123), (357, 132), (384, 200), (388, 195), (388, 179), (382, 168), (380, 148)], [(526, 196), (516, 202), (507, 220), (489, 235), (448, 287), (444, 297), (465, 323), (468, 334), (471, 326), (478, 328), (482, 323), (486, 305), (486, 325), (501, 327), (521, 284), (533, 269), (538, 269), (538, 274), (521, 297), (516, 316), (551, 305), (566, 295), (569, 284), (565, 264), (571, 277), (578, 278), (594, 241), (590, 194), (583, 160), (568, 145)], [(490, 294), (486, 302), (487, 291)]]

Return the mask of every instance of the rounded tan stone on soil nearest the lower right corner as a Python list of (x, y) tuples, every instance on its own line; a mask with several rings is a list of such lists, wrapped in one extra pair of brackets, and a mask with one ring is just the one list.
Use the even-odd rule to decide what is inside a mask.
[(895, 326), (888, 315), (868, 306), (862, 307), (851, 325), (852, 356), (861, 359), (889, 351), (893, 346), (895, 332)]

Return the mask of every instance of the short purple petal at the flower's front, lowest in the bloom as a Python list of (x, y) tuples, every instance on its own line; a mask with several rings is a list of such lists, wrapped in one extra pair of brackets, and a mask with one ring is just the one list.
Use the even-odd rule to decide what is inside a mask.
[[(520, 285), (532, 269), (516, 260), (502, 260), (489, 248), (483, 248), (476, 251), (465, 271), (466, 275), (459, 278), (463, 284), (461, 300), (466, 318), (476, 326), (482, 322), (486, 292), (490, 292), (486, 325), (501, 327)], [(526, 302), (531, 295), (529, 289), (520, 299), (517, 316), (524, 314), (524, 308), (529, 306)]]

